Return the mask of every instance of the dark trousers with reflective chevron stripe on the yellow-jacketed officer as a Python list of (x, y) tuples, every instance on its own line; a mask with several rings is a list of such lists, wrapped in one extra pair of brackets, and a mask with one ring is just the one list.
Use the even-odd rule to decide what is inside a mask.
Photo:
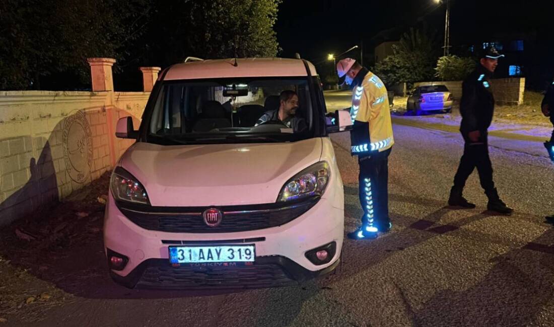
[[(364, 215), (362, 226), (388, 228), (388, 156), (392, 148), (371, 155), (358, 157), (360, 165), (360, 204)], [(373, 219), (373, 221), (371, 221)]]

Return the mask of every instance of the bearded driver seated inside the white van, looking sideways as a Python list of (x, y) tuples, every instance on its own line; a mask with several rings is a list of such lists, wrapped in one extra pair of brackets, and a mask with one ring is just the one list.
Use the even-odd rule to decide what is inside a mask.
[(266, 111), (254, 126), (268, 122), (280, 122), (286, 127), (292, 128), (295, 133), (302, 132), (307, 129), (307, 124), (304, 118), (296, 117), (298, 107), (299, 100), (296, 92), (285, 90), (279, 95), (279, 108)]

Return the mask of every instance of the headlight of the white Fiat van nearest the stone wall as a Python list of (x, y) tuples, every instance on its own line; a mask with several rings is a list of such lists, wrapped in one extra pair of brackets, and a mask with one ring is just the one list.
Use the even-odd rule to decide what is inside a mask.
[(110, 189), (111, 194), (118, 201), (150, 204), (144, 186), (131, 173), (121, 167), (116, 167), (111, 174)]

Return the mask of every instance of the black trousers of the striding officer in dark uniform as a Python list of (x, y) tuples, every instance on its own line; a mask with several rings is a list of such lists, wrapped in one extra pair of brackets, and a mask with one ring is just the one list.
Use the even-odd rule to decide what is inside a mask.
[(468, 134), (464, 137), (464, 155), (461, 156), (458, 172), (454, 176), (454, 186), (463, 188), (469, 175), (477, 168), (481, 187), (486, 191), (494, 190), (493, 165), (489, 157), (488, 133), (481, 131), (478, 142), (471, 142)]

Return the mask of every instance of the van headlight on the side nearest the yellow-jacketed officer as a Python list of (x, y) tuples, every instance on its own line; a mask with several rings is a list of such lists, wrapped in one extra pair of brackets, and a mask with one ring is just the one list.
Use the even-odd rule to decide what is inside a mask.
[(331, 170), (327, 162), (319, 162), (289, 179), (281, 189), (277, 201), (291, 201), (324, 193)]

